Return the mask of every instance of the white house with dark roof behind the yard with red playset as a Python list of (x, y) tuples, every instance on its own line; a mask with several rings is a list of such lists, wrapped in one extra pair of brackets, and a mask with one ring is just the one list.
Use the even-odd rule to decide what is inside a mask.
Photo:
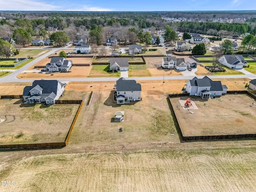
[(207, 76), (202, 79), (194, 77), (187, 81), (186, 92), (190, 95), (200, 96), (201, 98), (210, 98), (211, 96), (221, 96), (227, 93), (227, 86), (222, 85), (220, 81), (212, 81)]

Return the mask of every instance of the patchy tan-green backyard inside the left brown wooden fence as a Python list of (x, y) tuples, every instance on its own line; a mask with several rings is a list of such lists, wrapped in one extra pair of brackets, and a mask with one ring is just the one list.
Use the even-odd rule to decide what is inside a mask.
[[(0, 100), (0, 144), (63, 142), (78, 104), (24, 104), (19, 99)], [(14, 117), (15, 116), (15, 121)], [(12, 122), (11, 122), (12, 121)]]

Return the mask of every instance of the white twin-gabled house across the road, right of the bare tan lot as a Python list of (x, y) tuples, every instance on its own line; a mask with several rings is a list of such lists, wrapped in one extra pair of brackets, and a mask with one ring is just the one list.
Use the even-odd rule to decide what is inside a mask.
[(164, 57), (162, 59), (162, 68), (168, 68), (176, 70), (186, 70), (187, 65), (185, 63), (184, 58), (176, 58), (174, 56), (172, 57)]

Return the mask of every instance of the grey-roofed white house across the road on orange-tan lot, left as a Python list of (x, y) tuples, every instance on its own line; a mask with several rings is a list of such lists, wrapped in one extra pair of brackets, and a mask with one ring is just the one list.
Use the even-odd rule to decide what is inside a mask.
[(46, 69), (49, 72), (65, 72), (72, 67), (72, 60), (66, 60), (64, 57), (53, 57), (50, 63), (46, 64)]

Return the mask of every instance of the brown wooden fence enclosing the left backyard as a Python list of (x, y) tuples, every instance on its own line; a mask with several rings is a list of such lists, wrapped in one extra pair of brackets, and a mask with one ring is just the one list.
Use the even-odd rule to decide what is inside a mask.
[[(72, 100), (56, 100), (56, 101), (62, 101), (62, 103), (70, 103)], [(74, 117), (74, 120), (68, 130), (68, 134), (65, 138), (64, 142), (49, 142), (49, 143), (30, 143), (30, 144), (4, 144), (0, 145), (0, 149), (22, 149), (22, 148), (50, 148), (50, 147), (65, 147), (68, 144), (68, 140), (70, 138), (70, 134), (73, 130), (74, 124), (76, 123), (76, 119), (80, 113), (80, 110), (83, 106), (83, 100), (74, 100), (74, 102), (71, 103), (80, 103), (80, 106), (76, 112), (76, 116)]]

